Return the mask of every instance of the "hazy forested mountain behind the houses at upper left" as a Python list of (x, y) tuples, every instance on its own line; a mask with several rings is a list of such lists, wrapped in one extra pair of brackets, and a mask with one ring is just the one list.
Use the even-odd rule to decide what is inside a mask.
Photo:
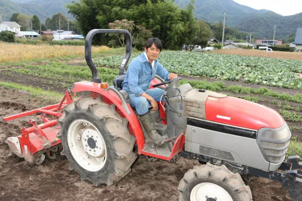
[(71, 2), (72, 0), (0, 0), (0, 15), (3, 21), (9, 21), (13, 13), (37, 15), (43, 22), (61, 12), (67, 19), (72, 19), (65, 7)]

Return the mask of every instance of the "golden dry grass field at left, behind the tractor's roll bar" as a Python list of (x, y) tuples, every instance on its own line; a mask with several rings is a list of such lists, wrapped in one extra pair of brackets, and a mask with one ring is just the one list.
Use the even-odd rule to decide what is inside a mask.
[[(92, 53), (108, 51), (106, 46), (92, 47)], [(27, 45), (0, 41), (0, 62), (84, 55), (83, 46)]]

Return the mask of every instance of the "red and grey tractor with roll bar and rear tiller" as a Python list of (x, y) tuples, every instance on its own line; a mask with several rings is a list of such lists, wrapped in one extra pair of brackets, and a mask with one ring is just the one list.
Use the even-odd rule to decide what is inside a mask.
[[(126, 37), (126, 56), (113, 86), (101, 82), (91, 59), (96, 33)], [(302, 201), (301, 159), (293, 156), (284, 161), (291, 132), (281, 115), (265, 106), (192, 89), (190, 84), (178, 86), (180, 78), (154, 79), (151, 87), (165, 89), (165, 101), (150, 113), (158, 133), (167, 135), (169, 141), (162, 146), (153, 144), (130, 106), (128, 93), (121, 89), (131, 48), (127, 30), (91, 30), (86, 36), (85, 59), (92, 82), (75, 83), (58, 104), (3, 118), (8, 121), (41, 113), (44, 121), (37, 125), (30, 120), (32, 127), (23, 127), (20, 136), (8, 138), (11, 151), (36, 164), (45, 155), (55, 159), (60, 152), (71, 170), (96, 186), (122, 179), (137, 154), (166, 161), (183, 156), (203, 165), (181, 179), (179, 201), (251, 201), (251, 191), (242, 179), (250, 175), (279, 181), (288, 189), (288, 198)], [(73, 99), (73, 93), (83, 91), (90, 92), (90, 97)]]

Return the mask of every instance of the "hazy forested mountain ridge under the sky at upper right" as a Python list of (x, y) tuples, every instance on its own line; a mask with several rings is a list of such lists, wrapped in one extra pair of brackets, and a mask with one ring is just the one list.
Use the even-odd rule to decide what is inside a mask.
[[(175, 0), (180, 7), (185, 8), (191, 0)], [(225, 24), (241, 31), (251, 32), (263, 39), (285, 39), (296, 33), (302, 27), (302, 13), (282, 16), (269, 10), (256, 10), (233, 0), (195, 0), (195, 17), (210, 23), (223, 22), (223, 13), (226, 13)]]

